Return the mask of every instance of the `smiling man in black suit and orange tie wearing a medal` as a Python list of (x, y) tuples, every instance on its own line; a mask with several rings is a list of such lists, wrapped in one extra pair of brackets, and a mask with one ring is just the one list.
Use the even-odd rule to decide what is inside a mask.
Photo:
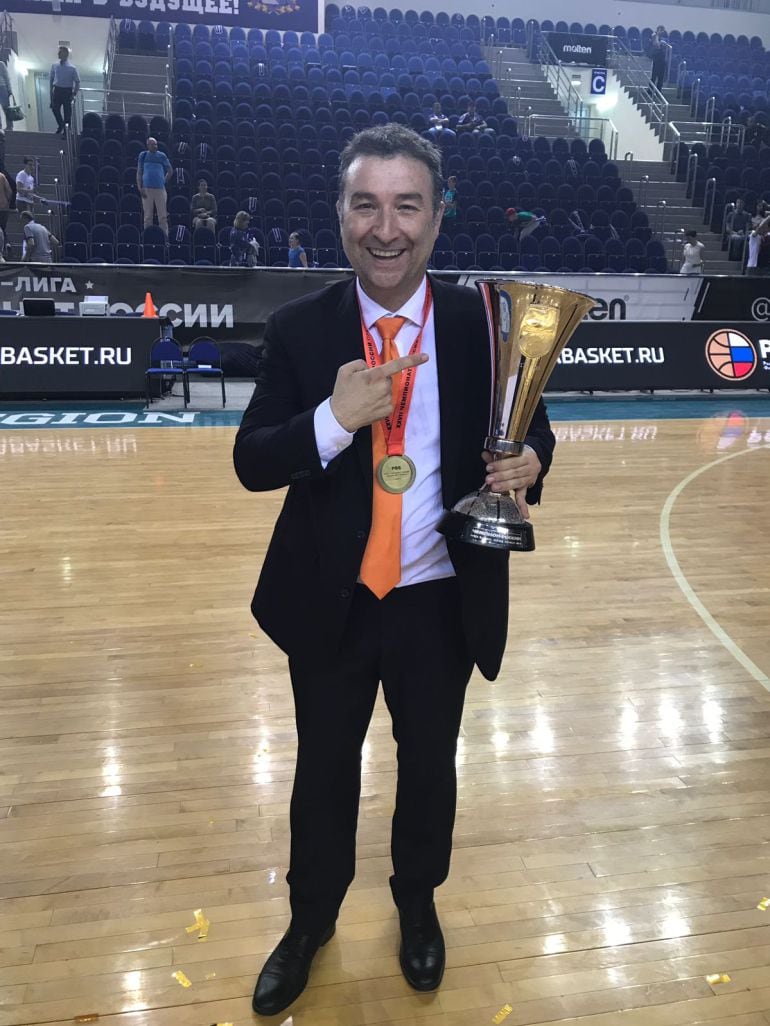
[[(500, 668), (508, 569), (507, 553), (447, 542), (435, 526), (484, 483), (485, 463), (487, 483), (513, 490), (526, 515), (554, 439), (540, 404), (523, 456), (493, 463), (479, 451), (486, 315), (475, 290), (426, 276), (442, 212), (435, 147), (398, 124), (355, 136), (338, 214), (356, 280), (270, 317), (235, 441), (245, 487), (288, 485), (252, 606), (288, 655), (299, 741), (292, 922), (260, 974), (253, 1007), (264, 1015), (305, 988), (353, 879), (361, 746), (380, 682), (398, 746), (390, 886), (400, 965), (417, 990), (444, 973), (433, 890), (449, 872), (457, 738), (473, 665), (489, 680)], [(400, 422), (390, 417), (405, 405)]]

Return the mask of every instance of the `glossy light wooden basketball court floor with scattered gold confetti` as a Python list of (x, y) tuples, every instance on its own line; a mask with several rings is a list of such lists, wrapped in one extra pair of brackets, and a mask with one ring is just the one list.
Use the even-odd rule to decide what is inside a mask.
[[(337, 937), (270, 1021), (768, 1026), (764, 409), (554, 425), (465, 711), (444, 984), (398, 969), (380, 702)], [(281, 495), (240, 489), (233, 434), (0, 426), (2, 1026), (256, 1021), (295, 736), (248, 613)]]

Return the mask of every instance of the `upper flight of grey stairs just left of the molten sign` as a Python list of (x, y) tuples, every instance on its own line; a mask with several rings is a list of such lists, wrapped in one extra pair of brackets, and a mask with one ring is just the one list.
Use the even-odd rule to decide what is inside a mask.
[[(536, 121), (533, 135), (575, 137), (564, 108), (540, 65), (533, 64), (523, 47), (489, 47), (486, 55), (493, 72), (496, 62), (502, 60), (502, 74), (496, 77), (500, 95), (507, 102), (511, 117), (522, 120), (528, 114), (546, 115), (547, 121)], [(519, 127), (519, 132), (523, 130)]]

